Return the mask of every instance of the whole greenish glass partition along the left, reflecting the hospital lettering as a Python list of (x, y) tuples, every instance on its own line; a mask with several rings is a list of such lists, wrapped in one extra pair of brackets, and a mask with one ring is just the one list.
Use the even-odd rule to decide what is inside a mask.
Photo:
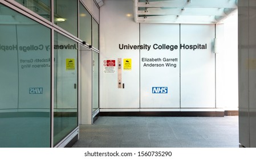
[[(10, 8), (0, 3), (0, 148), (58, 146), (78, 128), (78, 42), (60, 32), (78, 36), (79, 16), (79, 39), (99, 49), (99, 24), (92, 22), (92, 15), (79, 1), (15, 1), (31, 11), (20, 14), (10, 9), (15, 8), (10, 1), (5, 1)], [(21, 10), (28, 11), (25, 7)], [(54, 24), (40, 24), (36, 14)], [(92, 58), (95, 111), (99, 108), (99, 53), (93, 52)]]

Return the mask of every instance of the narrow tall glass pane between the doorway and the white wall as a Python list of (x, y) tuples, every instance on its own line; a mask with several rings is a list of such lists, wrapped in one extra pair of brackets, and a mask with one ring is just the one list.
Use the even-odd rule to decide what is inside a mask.
[(92, 111), (99, 108), (99, 54), (92, 53)]

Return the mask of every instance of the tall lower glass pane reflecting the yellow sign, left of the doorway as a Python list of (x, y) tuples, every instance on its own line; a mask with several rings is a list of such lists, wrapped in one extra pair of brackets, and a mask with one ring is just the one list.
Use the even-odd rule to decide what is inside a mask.
[(54, 145), (78, 127), (78, 43), (54, 34)]

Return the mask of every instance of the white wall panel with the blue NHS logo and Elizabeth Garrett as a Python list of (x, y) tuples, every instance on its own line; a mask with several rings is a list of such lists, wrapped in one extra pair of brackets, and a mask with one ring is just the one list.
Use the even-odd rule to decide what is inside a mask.
[[(180, 25), (140, 24), (140, 44), (151, 46), (149, 51), (140, 51), (141, 108), (180, 108), (180, 50), (153, 48), (155, 44), (179, 45)], [(159, 58), (159, 61), (147, 62), (143, 61), (144, 58)], [(163, 58), (177, 58), (177, 61), (165, 61)], [(176, 66), (166, 66), (166, 63)], [(164, 66), (144, 66), (145, 64)], [(152, 87), (168, 87), (168, 93), (152, 93)]]

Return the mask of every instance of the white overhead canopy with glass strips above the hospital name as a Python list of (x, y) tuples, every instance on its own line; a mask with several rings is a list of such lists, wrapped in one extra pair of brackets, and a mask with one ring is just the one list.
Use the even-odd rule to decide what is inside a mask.
[(237, 11), (238, 0), (133, 0), (135, 22), (216, 24)]

